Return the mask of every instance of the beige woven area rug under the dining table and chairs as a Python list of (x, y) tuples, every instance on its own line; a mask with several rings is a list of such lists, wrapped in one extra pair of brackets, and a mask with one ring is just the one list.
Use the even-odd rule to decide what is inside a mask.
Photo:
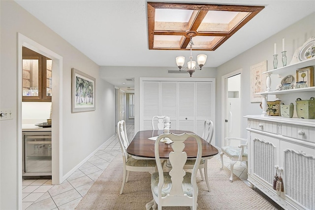
[[(257, 192), (230, 171), (220, 170), (221, 163), (212, 158), (208, 161), (208, 176), (211, 191), (198, 172), (198, 210), (276, 210)], [(124, 192), (119, 194), (123, 179), (123, 160), (119, 154), (95, 181), (76, 210), (145, 210), (153, 199), (149, 173), (130, 172)], [(190, 210), (189, 207), (163, 207), (163, 210)]]

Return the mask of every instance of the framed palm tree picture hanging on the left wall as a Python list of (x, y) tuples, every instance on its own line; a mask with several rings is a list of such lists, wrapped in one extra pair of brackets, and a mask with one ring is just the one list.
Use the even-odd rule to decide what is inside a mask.
[(71, 112), (96, 109), (95, 78), (77, 69), (71, 69)]

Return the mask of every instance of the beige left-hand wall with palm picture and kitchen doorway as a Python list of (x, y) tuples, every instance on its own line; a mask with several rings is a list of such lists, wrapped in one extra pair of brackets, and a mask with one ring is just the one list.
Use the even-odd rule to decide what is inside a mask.
[[(17, 209), (17, 34), (63, 57), (62, 176), (115, 133), (114, 86), (99, 76), (99, 66), (12, 0), (0, 0), (0, 108), (14, 111), (0, 121), (0, 209)], [(71, 113), (71, 68), (96, 78), (96, 110)], [(22, 209), (22, 207), (20, 207)]]

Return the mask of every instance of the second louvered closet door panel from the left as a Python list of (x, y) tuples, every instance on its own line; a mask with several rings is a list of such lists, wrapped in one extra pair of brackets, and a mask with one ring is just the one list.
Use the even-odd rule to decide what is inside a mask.
[(177, 82), (161, 81), (160, 115), (170, 117), (170, 129), (177, 125)]

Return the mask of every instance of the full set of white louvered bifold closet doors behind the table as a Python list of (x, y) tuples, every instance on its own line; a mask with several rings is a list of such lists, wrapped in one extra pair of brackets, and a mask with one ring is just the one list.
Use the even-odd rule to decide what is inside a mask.
[(142, 81), (140, 130), (152, 129), (153, 116), (169, 116), (171, 130), (202, 136), (205, 119), (214, 121), (212, 81)]

